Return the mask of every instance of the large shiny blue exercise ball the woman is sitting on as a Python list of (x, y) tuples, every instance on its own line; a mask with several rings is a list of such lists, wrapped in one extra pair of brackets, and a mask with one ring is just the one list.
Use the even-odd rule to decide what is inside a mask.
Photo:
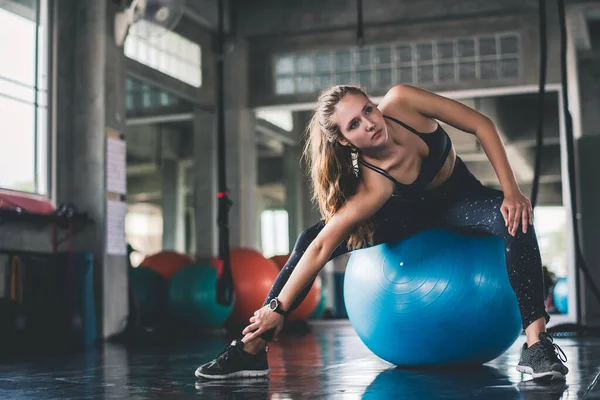
[(344, 300), (363, 343), (399, 366), (483, 364), (522, 331), (498, 237), (436, 229), (356, 250)]

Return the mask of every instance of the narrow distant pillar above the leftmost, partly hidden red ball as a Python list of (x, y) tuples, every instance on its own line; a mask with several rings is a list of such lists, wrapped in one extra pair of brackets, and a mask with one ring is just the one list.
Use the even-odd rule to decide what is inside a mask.
[(163, 249), (185, 252), (185, 170), (181, 161), (164, 159), (162, 172)]

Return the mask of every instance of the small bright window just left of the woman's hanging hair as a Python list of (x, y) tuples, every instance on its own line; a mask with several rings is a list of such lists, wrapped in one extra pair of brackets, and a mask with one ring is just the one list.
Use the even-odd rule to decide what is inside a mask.
[(261, 214), (262, 251), (265, 257), (290, 252), (288, 214), (285, 210), (266, 210)]

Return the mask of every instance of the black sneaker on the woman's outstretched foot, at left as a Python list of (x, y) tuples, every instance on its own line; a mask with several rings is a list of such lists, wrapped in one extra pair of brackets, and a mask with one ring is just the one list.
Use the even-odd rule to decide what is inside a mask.
[(269, 373), (267, 352), (252, 355), (244, 351), (244, 343), (234, 340), (219, 357), (196, 370), (197, 378), (230, 379), (265, 376)]

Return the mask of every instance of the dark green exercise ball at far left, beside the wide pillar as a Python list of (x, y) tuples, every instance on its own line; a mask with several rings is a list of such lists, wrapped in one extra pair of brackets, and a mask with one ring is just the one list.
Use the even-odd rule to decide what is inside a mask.
[(167, 308), (167, 281), (151, 268), (129, 268), (133, 307), (143, 327), (161, 324)]

